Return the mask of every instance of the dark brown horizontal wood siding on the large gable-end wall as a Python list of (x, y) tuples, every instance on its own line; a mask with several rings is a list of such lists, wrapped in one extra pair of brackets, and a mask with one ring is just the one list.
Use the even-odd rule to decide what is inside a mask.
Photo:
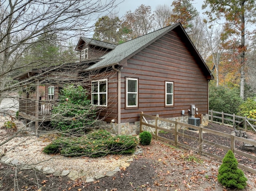
[[(139, 121), (140, 112), (163, 118), (181, 116), (191, 104), (208, 113), (208, 80), (178, 33), (171, 31), (128, 59), (121, 70), (121, 123)], [(125, 108), (125, 79), (138, 78), (139, 105)], [(165, 81), (174, 83), (174, 106), (165, 106)]]

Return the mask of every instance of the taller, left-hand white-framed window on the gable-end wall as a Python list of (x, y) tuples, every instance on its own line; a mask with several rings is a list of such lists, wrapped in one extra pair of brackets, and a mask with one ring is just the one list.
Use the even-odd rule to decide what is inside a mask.
[(126, 107), (138, 107), (138, 79), (126, 79)]

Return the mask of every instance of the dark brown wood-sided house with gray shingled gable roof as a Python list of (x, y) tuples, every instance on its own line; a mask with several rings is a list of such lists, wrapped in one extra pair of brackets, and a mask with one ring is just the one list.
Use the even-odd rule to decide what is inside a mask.
[[(208, 115), (208, 82), (214, 77), (180, 23), (117, 46), (80, 38), (76, 50), (80, 64), (87, 63), (79, 74), (93, 73), (91, 103), (118, 134), (138, 134), (141, 112), (179, 118), (194, 109)], [(46, 85), (46, 98), (56, 99), (57, 91)]]

